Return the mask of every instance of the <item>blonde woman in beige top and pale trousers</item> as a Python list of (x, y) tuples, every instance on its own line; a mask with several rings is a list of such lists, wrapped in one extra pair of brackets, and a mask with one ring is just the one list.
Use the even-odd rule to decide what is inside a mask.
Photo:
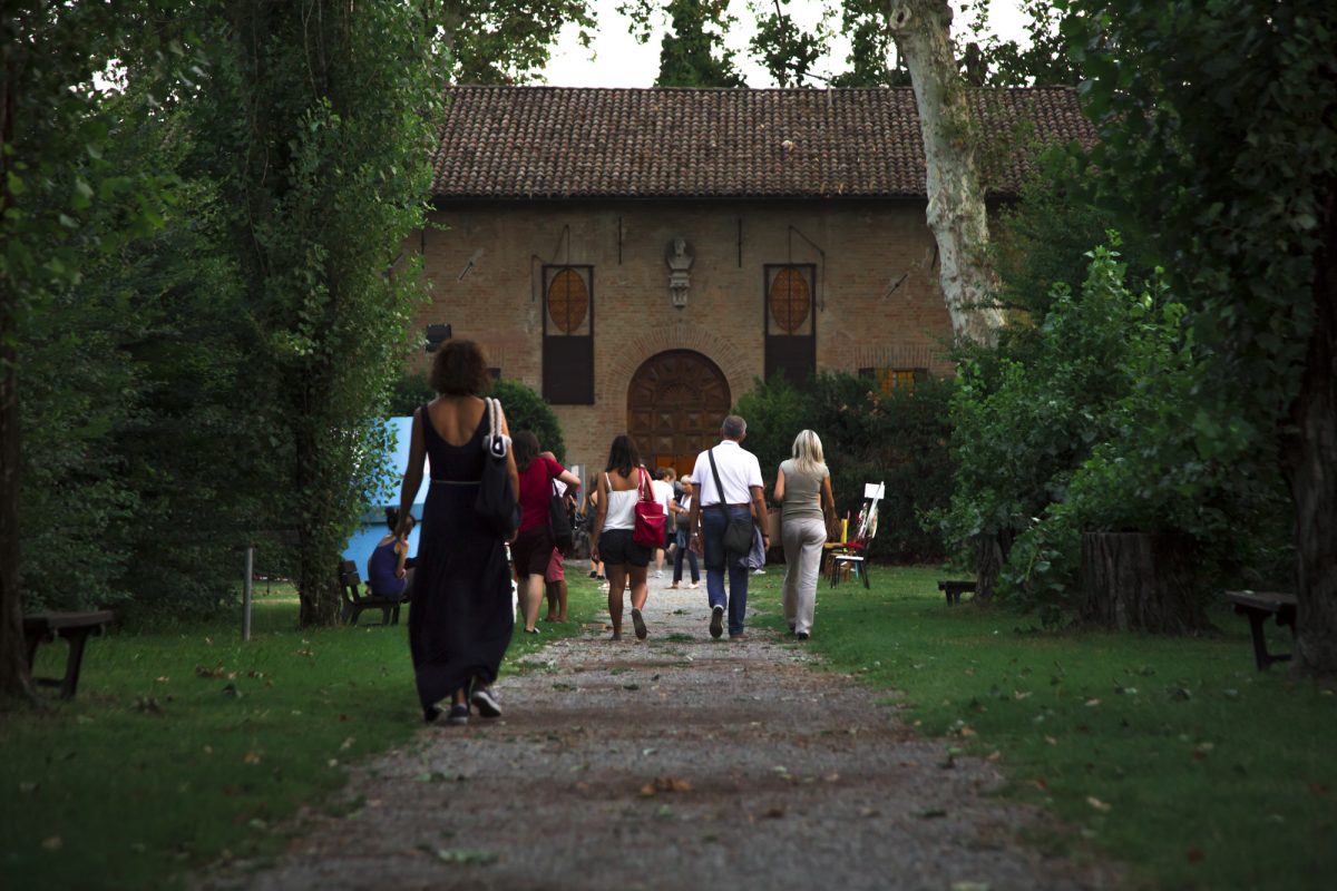
[(785, 546), (785, 621), (798, 640), (808, 640), (813, 633), (817, 574), (828, 522), (836, 516), (836, 497), (822, 441), (816, 433), (800, 430), (793, 456), (781, 462), (774, 492), (781, 502), (779, 540)]

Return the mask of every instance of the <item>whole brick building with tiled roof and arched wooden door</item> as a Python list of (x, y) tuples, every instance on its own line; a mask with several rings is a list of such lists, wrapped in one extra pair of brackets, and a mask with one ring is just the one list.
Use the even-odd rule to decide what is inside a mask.
[[(992, 206), (1094, 138), (1071, 90), (972, 102)], [(951, 371), (908, 88), (457, 87), (433, 167), (418, 322), (541, 393), (574, 464), (630, 431), (682, 472), (778, 374)]]

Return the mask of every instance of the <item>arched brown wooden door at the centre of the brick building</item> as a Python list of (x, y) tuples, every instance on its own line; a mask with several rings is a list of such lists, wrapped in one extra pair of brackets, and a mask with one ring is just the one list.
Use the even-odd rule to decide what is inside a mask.
[(627, 387), (627, 433), (647, 468), (691, 473), (697, 456), (719, 441), (729, 414), (729, 381), (714, 362), (691, 350), (646, 359)]

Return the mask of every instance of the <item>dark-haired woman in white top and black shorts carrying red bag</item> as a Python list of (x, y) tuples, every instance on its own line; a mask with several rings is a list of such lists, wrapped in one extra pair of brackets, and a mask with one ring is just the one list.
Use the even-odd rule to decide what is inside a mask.
[(614, 437), (608, 449), (608, 466), (599, 474), (599, 509), (590, 528), (590, 558), (603, 561), (608, 576), (608, 614), (612, 617), (612, 640), (622, 640), (622, 589), (631, 580), (631, 624), (636, 639), (646, 639), (646, 621), (640, 610), (650, 590), (646, 585), (650, 548), (632, 540), (636, 525), (636, 502), (648, 474), (640, 466), (640, 453), (631, 437)]

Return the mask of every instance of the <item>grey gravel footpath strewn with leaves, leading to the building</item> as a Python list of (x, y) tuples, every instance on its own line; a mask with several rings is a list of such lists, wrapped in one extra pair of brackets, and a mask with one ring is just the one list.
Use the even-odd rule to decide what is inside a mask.
[[(770, 569), (771, 576), (782, 572)], [(774, 609), (778, 580), (755, 590)], [(504, 715), (432, 725), (354, 771), (270, 870), (207, 888), (1104, 888), (1050, 859), (992, 765), (919, 740), (801, 644), (707, 633), (705, 586), (651, 580), (650, 639), (587, 628), (497, 685)], [(762, 585), (758, 585), (762, 588)], [(818, 612), (817, 633), (821, 633)]]

